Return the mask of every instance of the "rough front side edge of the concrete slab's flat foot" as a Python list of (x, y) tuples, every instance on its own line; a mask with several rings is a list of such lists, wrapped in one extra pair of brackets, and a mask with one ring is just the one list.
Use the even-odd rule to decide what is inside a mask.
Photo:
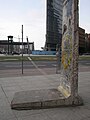
[(57, 99), (57, 100), (48, 100), (48, 101), (38, 101), (31, 103), (18, 103), (12, 104), (11, 109), (15, 110), (32, 110), (32, 109), (48, 109), (48, 108), (57, 108), (57, 107), (74, 107), (83, 105), (83, 100), (80, 96)]

